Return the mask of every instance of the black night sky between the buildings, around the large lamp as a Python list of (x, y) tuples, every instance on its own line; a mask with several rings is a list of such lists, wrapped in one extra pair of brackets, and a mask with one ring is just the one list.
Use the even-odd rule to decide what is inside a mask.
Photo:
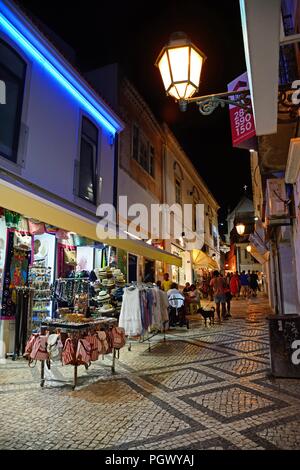
[(234, 149), (228, 109), (202, 116), (196, 105), (185, 113), (167, 98), (158, 69), (158, 53), (174, 31), (184, 31), (207, 56), (199, 94), (227, 90), (246, 70), (238, 0), (160, 2), (73, 2), (20, 0), (29, 14), (49, 26), (77, 54), (84, 72), (121, 64), (158, 120), (165, 120), (221, 206), (220, 221), (250, 190), (249, 153)]

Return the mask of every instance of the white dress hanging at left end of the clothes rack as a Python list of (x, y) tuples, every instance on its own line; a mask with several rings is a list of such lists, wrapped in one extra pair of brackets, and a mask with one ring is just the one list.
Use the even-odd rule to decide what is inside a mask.
[(128, 287), (124, 290), (119, 326), (128, 336), (140, 336), (143, 332), (139, 290)]

